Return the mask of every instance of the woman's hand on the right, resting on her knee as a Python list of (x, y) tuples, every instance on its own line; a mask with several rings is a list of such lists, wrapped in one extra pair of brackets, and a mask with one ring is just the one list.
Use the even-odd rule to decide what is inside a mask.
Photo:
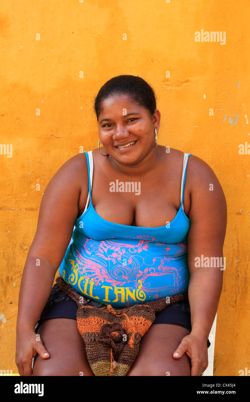
[(173, 354), (175, 359), (179, 359), (184, 353), (191, 359), (191, 375), (201, 375), (208, 366), (207, 339), (201, 338), (197, 334), (192, 334), (182, 338), (180, 345)]

